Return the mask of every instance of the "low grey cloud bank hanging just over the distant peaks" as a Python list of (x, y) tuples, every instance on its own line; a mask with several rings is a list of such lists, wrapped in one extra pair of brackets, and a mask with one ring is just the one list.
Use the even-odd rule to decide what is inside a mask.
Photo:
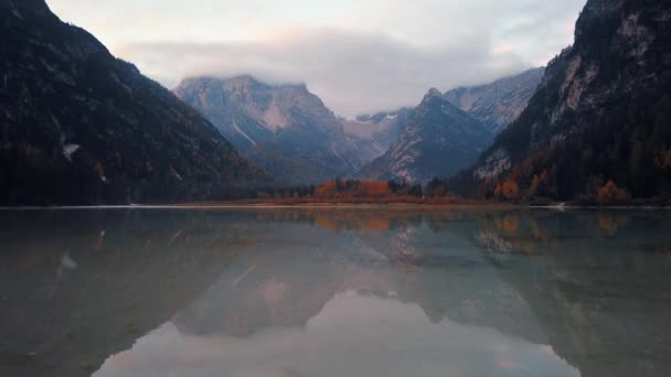
[(244, 44), (140, 43), (117, 53), (168, 87), (203, 75), (306, 83), (345, 116), (415, 105), (430, 87), (486, 83), (531, 65), (513, 49), (492, 46), (486, 37), (436, 47), (337, 30), (303, 30)]

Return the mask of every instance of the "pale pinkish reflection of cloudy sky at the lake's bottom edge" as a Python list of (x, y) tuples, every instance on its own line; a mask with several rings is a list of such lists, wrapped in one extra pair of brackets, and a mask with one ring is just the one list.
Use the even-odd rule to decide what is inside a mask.
[(511, 367), (516, 376), (575, 375), (541, 345), (448, 320), (433, 324), (417, 304), (344, 292), (305, 328), (236, 338), (185, 335), (164, 324), (95, 376), (491, 376)]

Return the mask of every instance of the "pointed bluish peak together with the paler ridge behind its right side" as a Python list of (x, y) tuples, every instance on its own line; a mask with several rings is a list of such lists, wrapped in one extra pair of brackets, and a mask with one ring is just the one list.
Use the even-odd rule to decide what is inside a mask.
[(543, 71), (529, 69), (444, 95), (429, 90), (417, 108), (406, 111), (388, 150), (362, 168), (358, 176), (426, 183), (470, 166), (509, 120), (524, 109)]

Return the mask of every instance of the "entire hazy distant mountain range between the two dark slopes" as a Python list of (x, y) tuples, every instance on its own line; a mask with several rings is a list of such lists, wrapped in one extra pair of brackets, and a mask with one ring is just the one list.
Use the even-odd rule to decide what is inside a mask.
[(525, 106), (542, 71), (449, 91), (434, 104), (446, 107), (444, 117), (427, 112), (423, 103), (415, 109), (338, 118), (305, 85), (268, 85), (252, 76), (189, 78), (174, 93), (283, 182), (351, 176), (423, 182), (472, 164), (502, 122)]

